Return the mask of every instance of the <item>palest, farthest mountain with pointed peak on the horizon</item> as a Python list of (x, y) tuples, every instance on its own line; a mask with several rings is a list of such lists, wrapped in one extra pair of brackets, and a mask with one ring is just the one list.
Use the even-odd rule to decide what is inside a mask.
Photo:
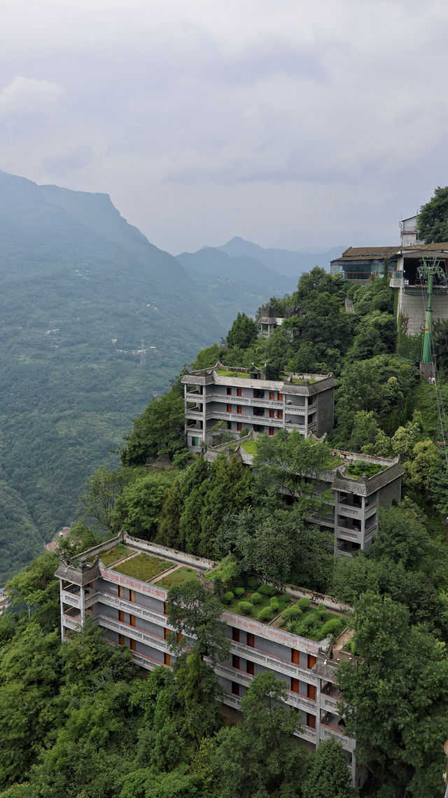
[[(222, 247), (216, 247), (232, 258), (253, 258), (265, 266), (277, 271), (281, 275), (293, 277), (296, 280), (304, 271), (320, 266), (325, 271), (329, 269), (330, 260), (338, 258), (345, 247), (334, 247), (322, 252), (297, 252), (282, 249), (265, 249), (252, 241), (241, 239), (238, 235)], [(296, 286), (294, 286), (296, 287)]]

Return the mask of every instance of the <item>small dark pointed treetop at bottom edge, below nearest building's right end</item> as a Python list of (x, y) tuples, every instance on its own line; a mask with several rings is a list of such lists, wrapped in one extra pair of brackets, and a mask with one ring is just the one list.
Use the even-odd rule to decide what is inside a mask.
[(308, 760), (303, 798), (352, 798), (350, 771), (340, 743), (331, 737)]

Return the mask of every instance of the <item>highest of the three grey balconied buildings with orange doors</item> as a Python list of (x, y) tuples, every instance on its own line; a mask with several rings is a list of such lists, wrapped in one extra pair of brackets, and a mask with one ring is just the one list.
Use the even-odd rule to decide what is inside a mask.
[(329, 374), (281, 373), (266, 380), (263, 369), (224, 366), (198, 369), (182, 378), (185, 386), (187, 446), (200, 452), (213, 442), (219, 421), (238, 436), (242, 429), (274, 435), (298, 429), (321, 436), (333, 426), (336, 380)]

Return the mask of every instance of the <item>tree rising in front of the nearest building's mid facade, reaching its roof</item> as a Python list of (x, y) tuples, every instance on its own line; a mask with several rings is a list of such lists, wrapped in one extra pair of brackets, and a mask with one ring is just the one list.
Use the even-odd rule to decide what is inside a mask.
[(209, 657), (214, 664), (217, 659), (226, 659), (230, 643), (221, 613), (218, 599), (196, 579), (171, 587), (167, 598), (167, 614), (175, 629), (170, 638), (171, 650), (178, 655), (183, 653), (184, 641), (179, 641), (182, 634), (195, 641), (193, 646), (201, 660)]

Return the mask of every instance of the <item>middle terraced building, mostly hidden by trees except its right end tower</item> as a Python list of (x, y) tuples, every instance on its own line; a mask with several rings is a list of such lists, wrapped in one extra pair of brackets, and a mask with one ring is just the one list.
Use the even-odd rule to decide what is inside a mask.
[[(242, 463), (249, 467), (253, 454), (244, 447), (246, 440), (253, 438), (251, 434), (238, 440), (236, 448), (232, 444), (231, 450), (232, 455), (241, 457)], [(209, 448), (206, 460), (211, 462), (218, 452), (230, 451), (229, 446), (221, 444)], [(393, 501), (400, 502), (404, 468), (399, 456), (376, 457), (339, 449), (332, 449), (332, 456), (335, 466), (322, 471), (319, 480), (314, 480), (316, 493), (329, 491), (332, 500), (310, 520), (334, 534), (335, 555), (350, 557), (355, 551), (371, 547), (378, 530), (378, 508), (390, 507)]]

